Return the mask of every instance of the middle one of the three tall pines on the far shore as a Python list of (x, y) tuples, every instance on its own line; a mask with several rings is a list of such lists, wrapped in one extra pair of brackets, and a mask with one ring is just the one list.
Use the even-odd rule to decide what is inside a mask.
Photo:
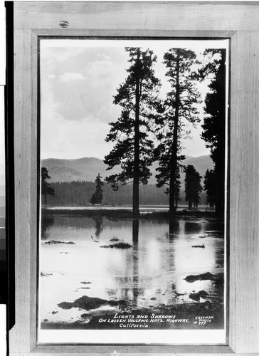
[(185, 48), (171, 48), (164, 55), (166, 76), (171, 84), (171, 91), (164, 101), (164, 115), (158, 117), (157, 139), (160, 141), (156, 154), (159, 160), (157, 171), (157, 187), (169, 185), (169, 211), (176, 209), (179, 190), (177, 174), (182, 167), (179, 162), (184, 159), (181, 155), (181, 138), (189, 135), (186, 122), (195, 125), (199, 122), (196, 104), (200, 103), (200, 95), (196, 89), (197, 75), (192, 70), (196, 54)]

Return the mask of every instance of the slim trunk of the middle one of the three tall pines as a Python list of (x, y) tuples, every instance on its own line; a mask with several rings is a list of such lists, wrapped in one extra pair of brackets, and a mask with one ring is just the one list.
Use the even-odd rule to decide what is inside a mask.
[(177, 141), (178, 141), (178, 125), (179, 125), (179, 53), (176, 58), (176, 93), (175, 93), (175, 115), (174, 115), (174, 133), (171, 155), (170, 183), (169, 183), (169, 211), (175, 211), (176, 197), (176, 167), (177, 167)]

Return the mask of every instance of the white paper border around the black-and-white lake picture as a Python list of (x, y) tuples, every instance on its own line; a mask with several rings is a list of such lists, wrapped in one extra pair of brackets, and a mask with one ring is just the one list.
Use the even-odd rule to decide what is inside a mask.
[[(65, 41), (65, 40), (68, 40), (68, 41)], [(222, 41), (223, 40), (223, 41)], [(225, 94), (226, 94), (226, 103), (224, 105), (224, 113), (226, 114), (226, 117), (224, 115), (223, 117), (223, 122), (224, 122), (224, 126), (225, 126), (225, 129), (226, 129), (226, 132), (228, 130), (228, 125), (229, 125), (229, 113), (228, 113), (228, 104), (229, 104), (229, 96), (228, 96), (228, 88), (229, 88), (229, 85), (228, 85), (228, 82), (229, 82), (229, 61), (230, 61), (230, 58), (229, 58), (229, 48), (230, 48), (230, 41), (229, 39), (226, 40), (226, 38), (206, 38), (205, 40), (203, 38), (185, 38), (184, 40), (179, 40), (179, 38), (165, 38), (165, 37), (162, 37), (162, 38), (159, 38), (159, 37), (144, 37), (142, 36), (141, 37), (141, 40), (139, 40), (139, 38), (132, 38), (132, 37), (126, 37), (126, 36), (114, 36), (114, 37), (108, 37), (108, 36), (93, 36), (93, 37), (89, 37), (89, 36), (85, 36), (85, 37), (78, 37), (78, 36), (62, 36), (62, 39), (60, 39), (60, 37), (58, 36), (38, 36), (38, 143), (40, 143), (40, 145), (38, 145), (38, 184), (39, 182), (41, 181), (41, 165), (42, 165), (42, 161), (41, 161), (41, 155), (42, 155), (42, 151), (41, 151), (41, 145), (44, 144), (44, 140), (41, 138), (42, 136), (42, 124), (43, 124), (43, 121), (46, 119), (46, 117), (43, 117), (43, 114), (41, 114), (41, 112), (43, 112), (44, 110), (44, 104), (42, 103), (42, 100), (41, 100), (41, 95), (42, 97), (44, 96), (44, 88), (43, 88), (43, 85), (41, 84), (41, 78), (43, 78), (43, 73), (44, 71), (46, 70), (46, 66), (45, 66), (45, 69), (44, 66), (42, 65), (42, 56), (43, 56), (43, 53), (44, 53), (44, 49), (45, 48), (48, 48), (48, 45), (43, 45), (44, 41), (47, 41), (47, 43), (50, 43), (51, 41), (53, 41), (53, 43), (55, 43), (55, 45), (53, 43), (51, 43), (51, 46), (50, 48), (52, 47), (56, 47), (58, 46), (58, 48), (69, 48), (70, 47), (70, 51), (73, 51), (73, 48), (76, 48), (77, 46), (82, 46), (82, 43), (83, 41), (87, 41), (88, 42), (88, 45), (83, 45), (82, 48), (92, 48), (92, 46), (94, 48), (102, 48), (102, 43), (104, 42), (107, 42), (110, 44), (110, 46), (108, 45), (107, 46), (107, 43), (104, 45), (105, 47), (107, 46), (107, 48), (110, 48), (112, 46), (115, 46), (115, 48), (124, 48), (125, 46), (126, 47), (129, 47), (129, 45), (127, 45), (125, 42), (127, 41), (130, 41), (132, 43), (132, 41), (134, 41), (134, 43), (131, 44), (131, 46), (140, 46), (139, 43), (141, 43), (141, 46), (148, 46), (149, 48), (152, 48), (152, 50), (154, 50), (154, 43), (157, 44), (157, 42), (164, 42), (164, 45), (169, 46), (168, 48), (171, 48), (172, 46), (177, 46), (177, 42), (180, 42), (181, 41), (181, 46), (182, 48), (185, 48), (185, 46), (193, 46), (195, 48), (196, 44), (197, 46), (201, 46), (201, 41), (203, 41), (203, 46), (206, 46), (204, 48), (214, 48), (213, 46), (215, 45), (215, 48), (224, 48), (224, 50), (226, 51), (226, 77), (224, 78), (225, 79)], [(62, 43), (62, 41), (64, 43)], [(79, 42), (81, 44), (78, 43), (78, 45), (75, 45), (76, 42)], [(94, 44), (91, 45), (91, 42), (93, 41)], [(97, 46), (97, 42), (100, 42), (100, 44)], [(186, 43), (184, 44), (184, 41), (186, 41)], [(187, 43), (188, 41), (188, 43)], [(71, 44), (71, 42), (75, 42), (73, 44)], [(116, 43), (114, 43), (116, 42)], [(207, 43), (206, 43), (207, 42)], [(215, 43), (213, 43), (215, 42)], [(171, 43), (174, 43), (174, 44), (171, 44)], [(208, 44), (209, 43), (209, 44)], [(59, 47), (60, 46), (60, 47)], [(96, 47), (97, 46), (97, 47)], [(118, 46), (118, 47), (117, 47)], [(159, 44), (160, 46), (160, 44)], [(188, 47), (187, 47), (188, 48)], [(190, 47), (191, 49), (191, 47)], [(166, 50), (164, 50), (166, 51)], [(193, 49), (194, 51), (194, 49)], [(201, 51), (201, 50), (200, 50)], [(204, 49), (203, 49), (204, 51)], [(197, 51), (198, 52), (198, 51)], [(155, 53), (157, 54), (157, 51), (155, 51)], [(51, 58), (51, 57), (50, 57)], [(76, 68), (76, 70), (78, 70), (79, 68)], [(144, 340), (146, 340), (145, 343), (147, 343), (147, 339), (149, 339), (149, 343), (150, 345), (201, 345), (204, 343), (204, 345), (212, 345), (211, 344), (211, 341), (208, 341), (208, 339), (212, 339), (213, 340), (213, 345), (228, 345), (228, 259), (227, 259), (227, 256), (228, 256), (228, 251), (227, 251), (227, 246), (228, 246), (228, 232), (226, 231), (226, 215), (227, 215), (227, 202), (228, 202), (228, 197), (227, 197), (227, 194), (226, 192), (228, 191), (228, 187), (227, 187), (227, 178), (228, 178), (228, 174), (227, 174), (227, 168), (228, 168), (228, 142), (226, 142), (226, 138), (228, 137), (228, 133), (226, 133), (226, 135), (224, 135), (224, 140), (225, 140), (225, 145), (224, 145), (224, 151), (225, 151), (225, 159), (224, 159), (224, 166), (225, 168), (223, 169), (223, 177), (224, 177), (224, 187), (223, 187), (223, 194), (224, 194), (224, 201), (225, 203), (223, 203), (223, 211), (222, 211), (222, 222), (223, 222), (223, 236), (224, 236), (224, 239), (223, 239), (223, 303), (222, 303), (222, 309), (223, 309), (223, 318), (222, 318), (222, 323), (223, 323), (223, 327), (222, 328), (217, 328), (217, 327), (213, 327), (213, 328), (207, 328), (207, 329), (210, 329), (210, 330), (204, 330), (204, 329), (201, 329), (201, 330), (195, 330), (196, 328), (193, 327), (193, 329), (185, 329), (185, 328), (177, 328), (178, 330), (168, 330), (166, 328), (166, 326), (163, 328), (154, 328), (154, 330), (150, 330), (150, 334), (149, 334), (149, 337), (147, 336), (147, 334), (145, 335), (144, 337), (144, 332), (140, 332), (139, 333), (139, 330), (136, 330), (137, 331), (137, 334), (138, 335), (141, 335), (143, 333), (143, 339), (142, 339), (142, 345), (144, 345)], [(46, 140), (46, 136), (44, 137), (45, 140)], [(68, 137), (66, 137), (67, 139)], [(203, 144), (204, 145), (204, 144)], [(205, 145), (204, 145), (205, 147)], [(205, 153), (203, 154), (205, 155)], [(187, 155), (188, 156), (188, 155)], [(49, 157), (56, 157), (55, 155), (53, 156), (52, 154), (49, 156)], [(207, 156), (209, 157), (209, 155)], [(211, 161), (212, 162), (212, 161)], [(44, 165), (44, 164), (43, 164)], [(46, 165), (46, 167), (48, 167)], [(53, 179), (53, 173), (51, 173), (51, 178)], [(97, 173), (96, 173), (97, 174)], [(55, 177), (55, 175), (54, 175)], [(88, 179), (89, 180), (89, 179)], [(182, 198), (183, 199), (183, 198)], [(180, 199), (181, 200), (181, 199)], [(41, 201), (41, 187), (38, 187), (38, 201)], [(41, 204), (44, 204), (42, 201), (40, 203)], [(53, 204), (53, 203), (51, 203)], [(200, 203), (201, 204), (201, 203)], [(84, 204), (83, 204), (84, 205)], [(41, 211), (41, 207), (38, 208), (39, 211)], [(48, 209), (48, 208), (47, 208)], [(53, 209), (55, 209), (55, 207), (53, 207)], [(102, 208), (101, 208), (102, 209)], [(166, 209), (166, 208), (164, 208)], [(39, 212), (38, 211), (38, 212)], [(180, 209), (181, 211), (181, 209)], [(120, 214), (120, 213), (119, 213)], [(41, 217), (41, 213), (38, 214), (40, 217)], [(62, 213), (63, 215), (63, 213)], [(87, 215), (86, 215), (87, 216)], [(120, 215), (117, 216), (117, 218), (120, 219), (119, 217)], [(116, 216), (115, 216), (116, 217)], [(117, 219), (116, 218), (116, 219)], [(141, 220), (141, 217), (139, 216), (139, 220)], [(41, 221), (40, 221), (40, 226), (41, 226)], [(41, 261), (41, 253), (42, 253), (42, 247), (41, 247), (41, 234), (42, 234), (42, 231), (41, 231), (41, 227), (38, 227), (38, 258), (39, 260)], [(170, 234), (171, 236), (171, 234)], [(97, 241), (95, 241), (97, 242)], [(100, 246), (102, 247), (102, 246)], [(40, 262), (41, 264), (41, 262)], [(127, 341), (125, 340), (125, 342), (118, 342), (118, 344), (120, 345), (127, 345), (128, 342), (131, 342), (132, 345), (141, 345), (141, 342), (136, 342), (136, 340), (138, 340), (138, 337), (136, 336), (136, 334), (133, 335), (130, 335), (130, 334), (133, 334), (133, 331), (132, 330), (110, 330), (108, 328), (108, 325), (107, 325), (107, 328), (106, 329), (103, 329), (103, 328), (100, 328), (98, 329), (97, 327), (95, 327), (95, 329), (91, 329), (91, 328), (88, 328), (88, 332), (90, 335), (85, 335), (85, 339), (84, 340), (84, 337), (83, 337), (83, 333), (85, 332), (84, 328), (81, 328), (81, 329), (78, 329), (78, 328), (56, 328), (55, 326), (52, 328), (41, 328), (41, 321), (40, 320), (43, 320), (43, 318), (40, 317), (41, 315), (41, 295), (42, 295), (42, 289), (40, 288), (40, 286), (42, 285), (41, 283), (41, 278), (40, 278), (40, 275), (41, 275), (41, 269), (38, 268), (37, 270), (37, 276), (38, 276), (38, 300), (37, 300), (37, 310), (38, 310), (38, 324), (37, 324), (37, 335), (38, 335), (38, 345), (49, 345), (49, 344), (60, 344), (62, 343), (62, 341), (60, 340), (64, 340), (64, 342), (66, 344), (71, 344), (71, 343), (76, 343), (76, 344), (80, 344), (80, 343), (83, 343), (83, 345), (95, 345), (95, 341), (91, 340), (92, 339), (92, 335), (93, 335), (93, 338), (95, 338), (95, 340), (97, 339), (98, 341), (99, 340), (102, 340), (102, 343), (104, 345), (111, 345), (113, 344), (117, 338), (117, 333), (120, 333), (120, 337), (121, 338), (124, 338), (127, 339)], [(44, 278), (45, 279), (45, 278)], [(192, 288), (194, 289), (194, 287)], [(184, 291), (184, 290), (183, 290)], [(186, 293), (186, 292), (185, 292)], [(54, 294), (55, 295), (55, 294)], [(47, 295), (46, 295), (47, 296)], [(197, 305), (196, 305), (197, 306)], [(199, 312), (199, 315), (203, 315), (203, 312)], [(211, 314), (210, 314), (211, 315)], [(214, 317), (213, 318), (216, 318), (216, 311), (213, 311), (213, 315)], [(191, 317), (191, 315), (190, 315)], [(48, 318), (48, 316), (46, 315), (46, 318)], [(179, 318), (182, 318), (182, 316), (180, 316)], [(47, 324), (50, 325), (50, 320), (48, 318), (48, 321), (47, 321)], [(191, 323), (191, 322), (190, 322)], [(153, 329), (153, 328), (152, 328)], [(99, 333), (97, 333), (97, 331), (99, 330)], [(62, 331), (65, 333), (64, 335), (60, 335), (60, 333), (62, 333)], [(147, 333), (149, 333), (149, 330), (146, 330)], [(157, 333), (160, 333), (159, 335), (156, 335), (156, 337), (153, 337), (152, 335), (152, 332), (156, 331)], [(68, 332), (70, 332), (71, 334), (69, 334)], [(78, 336), (74, 336), (74, 333), (78, 332)], [(179, 334), (182, 333), (182, 334)], [(193, 332), (193, 333), (192, 333)], [(213, 333), (214, 332), (214, 333)], [(223, 332), (223, 335), (222, 333)], [(95, 335), (96, 333), (96, 335)], [(130, 335), (130, 339), (131, 341), (129, 341), (129, 337), (127, 337), (126, 333), (128, 333), (128, 335)], [(166, 337), (163, 335), (162, 337), (162, 333), (170, 333), (170, 337), (171, 337), (171, 342), (167, 342), (167, 340), (169, 340), (169, 336)], [(196, 334), (197, 333), (197, 334)], [(199, 334), (198, 334), (199, 333)], [(213, 335), (214, 334), (214, 335)], [(221, 336), (219, 336), (219, 334)], [(73, 335), (73, 341), (70, 340), (70, 337), (71, 335)], [(107, 335), (107, 337), (106, 337)], [(48, 338), (49, 337), (49, 338)], [(58, 338), (58, 340), (55, 340), (55, 338)], [(190, 341), (188, 342), (188, 337), (192, 337), (192, 340), (194, 341)], [(75, 341), (75, 339), (78, 338), (78, 341)], [(107, 338), (111, 338), (113, 341), (109, 340), (108, 342), (106, 342)], [(201, 342), (199, 342), (197, 339), (199, 338), (199, 340), (203, 340)], [(157, 342), (154, 341), (155, 340), (158, 340)], [(164, 342), (164, 340), (166, 339), (166, 342)], [(181, 342), (179, 340), (182, 340), (184, 339), (184, 342)], [(43, 341), (42, 341), (43, 340)], [(68, 340), (70, 340), (68, 342)], [(80, 340), (80, 341), (79, 341)], [(177, 340), (176, 342), (173, 342), (172, 340)], [(187, 340), (187, 342), (185, 341)], [(219, 341), (219, 340), (222, 340), (222, 341)], [(223, 341), (224, 340), (224, 341)]]

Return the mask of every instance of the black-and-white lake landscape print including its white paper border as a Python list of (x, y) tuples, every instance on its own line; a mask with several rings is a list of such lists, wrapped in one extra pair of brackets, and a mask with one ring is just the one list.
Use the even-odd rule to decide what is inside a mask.
[(225, 343), (228, 40), (39, 56), (39, 342)]

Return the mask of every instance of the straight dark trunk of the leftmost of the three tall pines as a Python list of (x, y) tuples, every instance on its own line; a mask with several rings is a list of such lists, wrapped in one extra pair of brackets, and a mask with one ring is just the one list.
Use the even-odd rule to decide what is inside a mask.
[[(139, 65), (140, 51), (137, 50), (137, 64)], [(135, 90), (135, 122), (134, 122), (134, 170), (133, 170), (133, 215), (139, 215), (139, 75), (136, 79)]]

